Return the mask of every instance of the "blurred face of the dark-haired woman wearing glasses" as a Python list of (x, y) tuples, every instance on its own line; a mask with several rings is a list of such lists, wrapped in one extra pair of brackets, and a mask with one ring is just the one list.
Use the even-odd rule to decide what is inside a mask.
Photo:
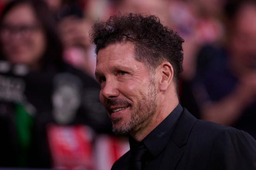
[(3, 18), (0, 30), (5, 58), (36, 68), (46, 48), (46, 37), (32, 7), (26, 3), (15, 6)]

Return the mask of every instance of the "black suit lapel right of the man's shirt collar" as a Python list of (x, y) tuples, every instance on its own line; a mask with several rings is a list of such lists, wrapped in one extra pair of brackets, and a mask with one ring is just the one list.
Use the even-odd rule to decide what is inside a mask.
[[(171, 138), (164, 150), (164, 154), (159, 165), (159, 169), (175, 170), (176, 166), (182, 157), (185, 149), (185, 144), (189, 139), (189, 134), (197, 119), (192, 116), (187, 109), (183, 108), (183, 112), (177, 121)], [(184, 147), (182, 147), (184, 146)]]

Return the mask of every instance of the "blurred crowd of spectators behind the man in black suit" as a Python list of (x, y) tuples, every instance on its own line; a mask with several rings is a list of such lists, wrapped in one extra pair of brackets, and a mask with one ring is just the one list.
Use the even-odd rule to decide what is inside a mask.
[(0, 0), (0, 167), (109, 170), (129, 150), (99, 102), (89, 39), (118, 12), (177, 31), (181, 104), (256, 138), (256, 0)]

